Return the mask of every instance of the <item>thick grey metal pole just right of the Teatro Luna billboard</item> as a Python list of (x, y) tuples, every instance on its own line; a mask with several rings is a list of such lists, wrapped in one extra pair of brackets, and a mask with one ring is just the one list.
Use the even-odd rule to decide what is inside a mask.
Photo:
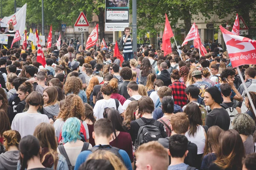
[(132, 0), (132, 37), (133, 57), (137, 58), (137, 0)]

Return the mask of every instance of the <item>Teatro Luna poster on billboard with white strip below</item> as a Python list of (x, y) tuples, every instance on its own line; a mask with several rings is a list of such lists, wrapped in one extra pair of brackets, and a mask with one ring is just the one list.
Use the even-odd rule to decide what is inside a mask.
[(105, 31), (124, 31), (129, 26), (129, 0), (106, 0)]

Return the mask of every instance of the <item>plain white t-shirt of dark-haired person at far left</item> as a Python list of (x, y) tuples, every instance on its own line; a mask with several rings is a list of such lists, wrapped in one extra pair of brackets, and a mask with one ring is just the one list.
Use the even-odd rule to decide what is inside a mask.
[(35, 127), (40, 123), (49, 123), (48, 116), (41, 113), (18, 113), (12, 121), (12, 130), (17, 130), (21, 138), (33, 135)]

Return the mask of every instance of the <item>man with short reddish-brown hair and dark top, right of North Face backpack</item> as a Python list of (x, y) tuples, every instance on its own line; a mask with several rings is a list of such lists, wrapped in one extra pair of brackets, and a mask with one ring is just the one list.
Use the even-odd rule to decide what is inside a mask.
[[(186, 113), (180, 112), (180, 113), (174, 114), (172, 116), (170, 123), (171, 123), (171, 129), (172, 129), (171, 136), (177, 135), (177, 134), (185, 136), (185, 133), (189, 130), (189, 117), (186, 115)], [(158, 142), (168, 149), (169, 139), (170, 137), (160, 138), (158, 139)], [(197, 145), (188, 141), (187, 146), (188, 146), (187, 150), (189, 151), (189, 153), (187, 154), (184, 160), (184, 163), (188, 164), (191, 167), (195, 167), (196, 161), (197, 161), (196, 159)]]

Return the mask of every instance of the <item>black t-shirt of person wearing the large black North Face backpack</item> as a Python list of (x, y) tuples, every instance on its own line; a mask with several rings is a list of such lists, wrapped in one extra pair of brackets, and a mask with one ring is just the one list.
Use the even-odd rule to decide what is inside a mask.
[[(147, 119), (145, 117), (141, 117), (140, 119), (142, 119), (145, 123), (151, 123), (151, 125), (153, 125), (154, 121), (157, 121), (153, 118), (152, 119)], [(131, 140), (132, 140), (133, 144), (135, 144), (135, 140), (137, 139), (139, 129), (140, 129), (140, 125), (136, 122), (136, 120), (132, 121), (131, 122), (130, 134), (131, 134)], [(159, 129), (161, 130), (162, 137), (163, 138), (167, 137), (166, 131), (164, 129), (164, 125), (161, 122), (160, 122)]]

